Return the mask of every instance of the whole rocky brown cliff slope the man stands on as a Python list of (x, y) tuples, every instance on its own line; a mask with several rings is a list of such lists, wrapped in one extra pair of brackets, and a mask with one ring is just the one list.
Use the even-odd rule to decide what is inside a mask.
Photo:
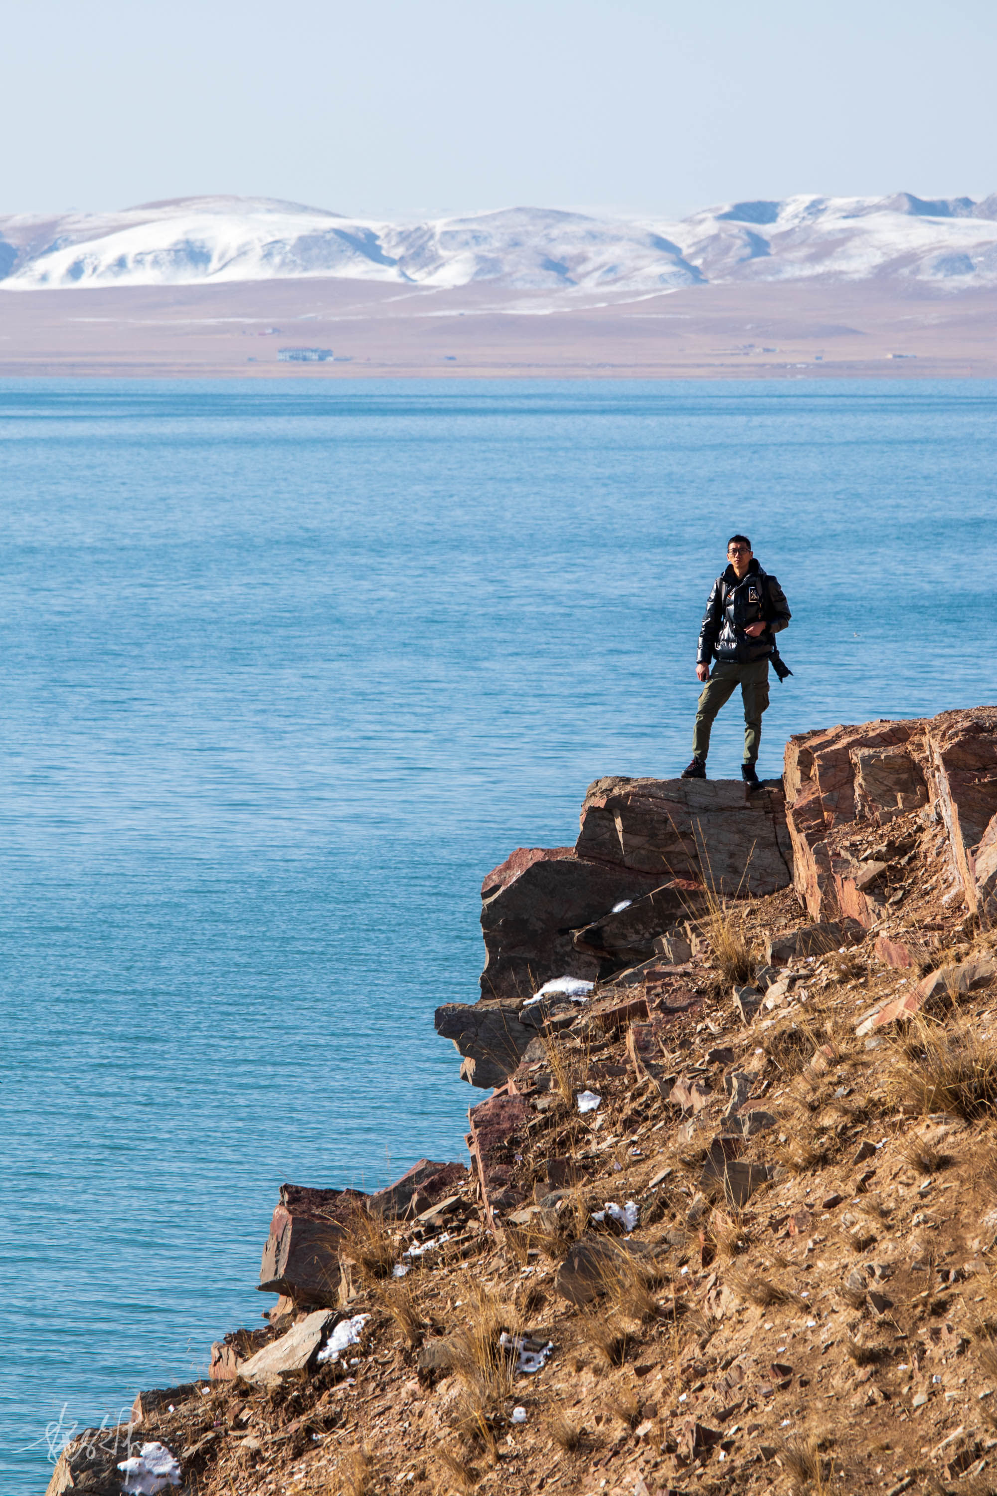
[(284, 1185), (266, 1327), (49, 1493), (997, 1490), (997, 709), (599, 779), (481, 899), (468, 1162)]

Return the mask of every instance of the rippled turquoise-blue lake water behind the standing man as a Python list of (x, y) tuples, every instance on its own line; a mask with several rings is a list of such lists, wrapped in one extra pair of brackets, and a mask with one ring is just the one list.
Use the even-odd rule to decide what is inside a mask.
[[(689, 757), (993, 702), (997, 384), (0, 383), (0, 1496), (262, 1324), (281, 1182), (463, 1156), (478, 887)], [(732, 702), (710, 772), (738, 773)], [(48, 1432), (46, 1432), (48, 1430)]]

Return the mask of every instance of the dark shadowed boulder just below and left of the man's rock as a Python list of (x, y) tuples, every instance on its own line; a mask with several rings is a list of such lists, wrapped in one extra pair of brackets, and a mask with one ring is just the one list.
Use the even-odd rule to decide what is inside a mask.
[(481, 996), (529, 998), (555, 977), (595, 981), (602, 960), (577, 948), (572, 932), (661, 881), (577, 856), (571, 847), (519, 848), (481, 884)]

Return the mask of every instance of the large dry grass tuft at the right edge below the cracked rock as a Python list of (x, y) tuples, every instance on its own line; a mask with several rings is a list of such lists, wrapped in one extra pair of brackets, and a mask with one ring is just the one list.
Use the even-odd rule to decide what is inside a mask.
[(966, 1023), (922, 1019), (900, 1047), (889, 1089), (922, 1116), (949, 1112), (975, 1122), (997, 1101), (997, 1043)]

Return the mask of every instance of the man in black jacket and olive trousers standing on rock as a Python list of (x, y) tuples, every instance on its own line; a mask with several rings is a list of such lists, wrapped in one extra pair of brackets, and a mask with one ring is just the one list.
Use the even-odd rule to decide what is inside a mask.
[[(728, 567), (717, 576), (700, 628), (697, 676), (706, 681), (692, 730), (692, 763), (683, 779), (706, 779), (713, 718), (740, 685), (744, 700), (744, 763), (741, 778), (758, 784), (755, 763), (762, 732), (762, 712), (768, 706), (768, 661), (774, 660), (782, 679), (791, 672), (779, 660), (776, 634), (789, 622), (786, 594), (752, 555), (747, 536), (731, 536), (726, 543)], [(713, 670), (710, 661), (716, 658)]]

